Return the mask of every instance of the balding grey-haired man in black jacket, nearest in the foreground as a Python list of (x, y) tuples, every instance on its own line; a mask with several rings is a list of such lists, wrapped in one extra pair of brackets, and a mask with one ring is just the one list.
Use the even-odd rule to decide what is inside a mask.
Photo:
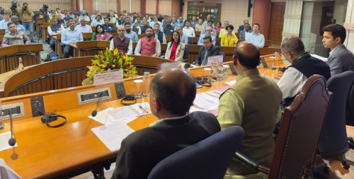
[(195, 95), (195, 80), (184, 71), (157, 73), (150, 84), (149, 103), (159, 120), (122, 141), (112, 178), (147, 178), (162, 159), (219, 132), (211, 113), (188, 114)]

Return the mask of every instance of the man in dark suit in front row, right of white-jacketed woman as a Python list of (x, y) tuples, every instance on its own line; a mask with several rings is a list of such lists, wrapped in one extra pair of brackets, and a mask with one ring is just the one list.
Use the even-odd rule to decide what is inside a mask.
[(205, 36), (203, 38), (202, 47), (200, 47), (197, 60), (195, 65), (206, 65), (207, 64), (207, 57), (215, 56), (220, 54), (220, 48), (212, 45), (212, 37)]

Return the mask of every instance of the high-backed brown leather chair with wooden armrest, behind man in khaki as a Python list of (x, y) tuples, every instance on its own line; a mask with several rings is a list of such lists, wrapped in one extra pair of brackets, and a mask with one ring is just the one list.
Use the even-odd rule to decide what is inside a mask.
[(314, 75), (307, 79), (299, 95), (285, 108), (270, 168), (241, 151), (236, 151), (235, 157), (272, 179), (307, 178), (312, 173), (331, 96), (323, 76)]

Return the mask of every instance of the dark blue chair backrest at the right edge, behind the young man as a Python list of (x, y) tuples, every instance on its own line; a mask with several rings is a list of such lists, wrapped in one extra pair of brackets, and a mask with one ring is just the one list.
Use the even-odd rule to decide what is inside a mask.
[(354, 71), (345, 71), (327, 81), (333, 96), (319, 140), (319, 154), (324, 158), (345, 154), (348, 149), (346, 102), (353, 81)]

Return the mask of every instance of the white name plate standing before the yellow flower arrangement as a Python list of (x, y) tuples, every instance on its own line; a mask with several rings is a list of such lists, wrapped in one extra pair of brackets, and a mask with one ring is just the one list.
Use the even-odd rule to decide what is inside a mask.
[(93, 74), (93, 85), (101, 85), (106, 83), (115, 83), (123, 81), (123, 70), (102, 71)]

